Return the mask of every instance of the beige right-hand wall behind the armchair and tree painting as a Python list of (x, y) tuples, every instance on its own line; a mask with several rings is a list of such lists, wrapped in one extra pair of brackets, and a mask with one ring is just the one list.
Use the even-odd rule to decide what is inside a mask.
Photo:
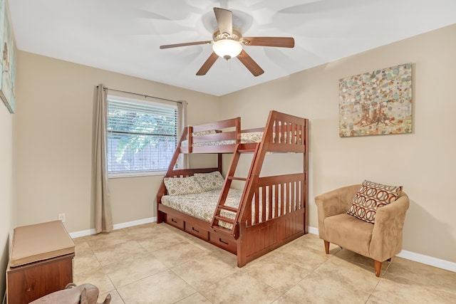
[[(404, 249), (456, 262), (455, 54), (453, 25), (225, 95), (221, 113), (241, 116), (243, 127), (264, 124), (272, 109), (309, 118), (310, 226), (322, 192), (363, 179), (403, 184)], [(413, 134), (339, 137), (338, 80), (402, 63), (414, 69)]]

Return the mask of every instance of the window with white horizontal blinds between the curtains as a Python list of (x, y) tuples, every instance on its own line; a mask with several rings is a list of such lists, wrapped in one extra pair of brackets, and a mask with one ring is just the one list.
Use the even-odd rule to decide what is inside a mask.
[(110, 177), (166, 171), (177, 146), (177, 117), (177, 105), (108, 96)]

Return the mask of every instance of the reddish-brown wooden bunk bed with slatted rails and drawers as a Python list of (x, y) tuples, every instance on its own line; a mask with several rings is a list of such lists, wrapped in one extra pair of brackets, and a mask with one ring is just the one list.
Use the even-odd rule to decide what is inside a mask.
[[(244, 140), (244, 135), (252, 133), (261, 140)], [(299, 169), (299, 173), (260, 176), (266, 153), (271, 152), (301, 153), (304, 157), (302, 172)], [(218, 154), (217, 167), (176, 169), (179, 155), (190, 153)], [(222, 154), (225, 153), (233, 156), (222, 188), (217, 192), (218, 201), (212, 205), (212, 219), (192, 216), (187, 211), (163, 204), (165, 199), (177, 197), (168, 195), (165, 180), (216, 171), (222, 173)], [(247, 177), (235, 177), (243, 153), (253, 154), (252, 163)], [(308, 232), (308, 168), (309, 121), (305, 118), (272, 110), (264, 128), (241, 130), (239, 117), (186, 127), (157, 192), (157, 223), (165, 221), (236, 254), (237, 266), (242, 267)], [(234, 192), (230, 189), (233, 181), (244, 181), (237, 206), (227, 203)], [(182, 198), (191, 201), (190, 195), (195, 194)]]

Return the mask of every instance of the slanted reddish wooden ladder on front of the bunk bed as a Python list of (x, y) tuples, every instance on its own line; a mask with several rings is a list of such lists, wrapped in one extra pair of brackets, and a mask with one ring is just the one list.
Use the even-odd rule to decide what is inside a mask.
[[(236, 167), (239, 162), (239, 158), (242, 153), (255, 153), (257, 152), (259, 147), (259, 144), (237, 144), (236, 145), (236, 151), (233, 154), (233, 158), (231, 161), (231, 164), (229, 165), (229, 170), (227, 172), (227, 178), (224, 181), (223, 187), (222, 187), (222, 192), (219, 197), (219, 202), (217, 204), (217, 209), (215, 210), (214, 216), (212, 216), (212, 229), (214, 231), (220, 231), (224, 232), (226, 234), (230, 234), (234, 236), (235, 239), (239, 236), (239, 229), (237, 226), (237, 219), (239, 216), (239, 208), (235, 208), (232, 206), (226, 206), (225, 201), (227, 201), (227, 196), (229, 189), (231, 187), (232, 181), (234, 180), (239, 180), (239, 181), (247, 181), (247, 178), (245, 177), (234, 177), (234, 172), (236, 172)], [(250, 174), (249, 174), (250, 175)], [(249, 176), (248, 175), (248, 176)], [(246, 183), (247, 186), (247, 183)], [(244, 186), (245, 188), (245, 186)], [(244, 189), (245, 190), (245, 189)], [(234, 219), (227, 218), (226, 216), (222, 216), (221, 211), (231, 211), (236, 214), (234, 216)], [(223, 221), (224, 223), (231, 224), (232, 229), (227, 229), (224, 226), (220, 226), (219, 223), (220, 221)]]

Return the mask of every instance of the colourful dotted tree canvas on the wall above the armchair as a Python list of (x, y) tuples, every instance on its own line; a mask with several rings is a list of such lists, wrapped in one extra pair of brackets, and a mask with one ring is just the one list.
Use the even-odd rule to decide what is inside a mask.
[(412, 132), (412, 64), (339, 80), (341, 137)]

